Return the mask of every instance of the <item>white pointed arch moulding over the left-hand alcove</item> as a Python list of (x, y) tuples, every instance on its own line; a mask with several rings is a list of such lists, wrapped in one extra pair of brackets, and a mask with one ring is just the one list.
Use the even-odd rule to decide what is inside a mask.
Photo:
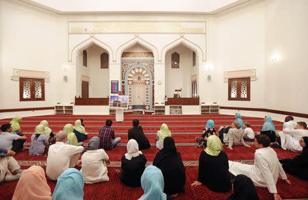
[(95, 38), (94, 36), (90, 36), (90, 38), (80, 42), (78, 45), (76, 45), (72, 49), (72, 51), (70, 52), (69, 62), (76, 62), (77, 55), (81, 51), (84, 51), (84, 49), (87, 49), (88, 47), (90, 47), (93, 44), (95, 44), (95, 45), (105, 49), (106, 51), (108, 51), (108, 54), (110, 55), (110, 58), (112, 58), (112, 56), (114, 55), (114, 51), (112, 51), (112, 48), (109, 45), (105, 44), (104, 42), (102, 42), (101, 40)]

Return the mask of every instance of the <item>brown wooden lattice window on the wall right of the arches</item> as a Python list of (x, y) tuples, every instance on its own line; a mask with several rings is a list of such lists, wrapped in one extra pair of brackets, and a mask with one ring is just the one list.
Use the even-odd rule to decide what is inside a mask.
[(251, 101), (251, 78), (229, 79), (229, 101)]

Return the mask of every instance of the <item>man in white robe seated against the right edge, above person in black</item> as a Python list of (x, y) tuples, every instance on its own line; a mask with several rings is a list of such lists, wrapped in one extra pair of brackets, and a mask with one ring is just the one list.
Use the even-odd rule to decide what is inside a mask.
[(300, 138), (308, 136), (307, 124), (303, 121), (297, 123), (296, 127), (285, 128), (282, 132), (279, 132), (279, 142), (282, 149), (290, 150), (294, 152), (303, 151), (303, 147), (300, 145)]

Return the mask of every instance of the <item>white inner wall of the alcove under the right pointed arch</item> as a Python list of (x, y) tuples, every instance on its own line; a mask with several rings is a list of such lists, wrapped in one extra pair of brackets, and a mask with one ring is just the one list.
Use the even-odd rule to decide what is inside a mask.
[[(179, 68), (171, 68), (171, 55), (175, 52), (180, 56)], [(170, 49), (166, 53), (165, 66), (166, 96), (173, 97), (175, 90), (182, 88), (182, 92), (179, 93), (183, 94), (182, 97), (192, 97), (192, 50), (184, 45)]]

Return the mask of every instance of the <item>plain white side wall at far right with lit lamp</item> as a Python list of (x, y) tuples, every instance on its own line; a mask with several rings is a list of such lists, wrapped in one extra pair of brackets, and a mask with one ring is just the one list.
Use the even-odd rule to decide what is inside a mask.
[(308, 113), (307, 8), (306, 0), (266, 1), (266, 108)]

